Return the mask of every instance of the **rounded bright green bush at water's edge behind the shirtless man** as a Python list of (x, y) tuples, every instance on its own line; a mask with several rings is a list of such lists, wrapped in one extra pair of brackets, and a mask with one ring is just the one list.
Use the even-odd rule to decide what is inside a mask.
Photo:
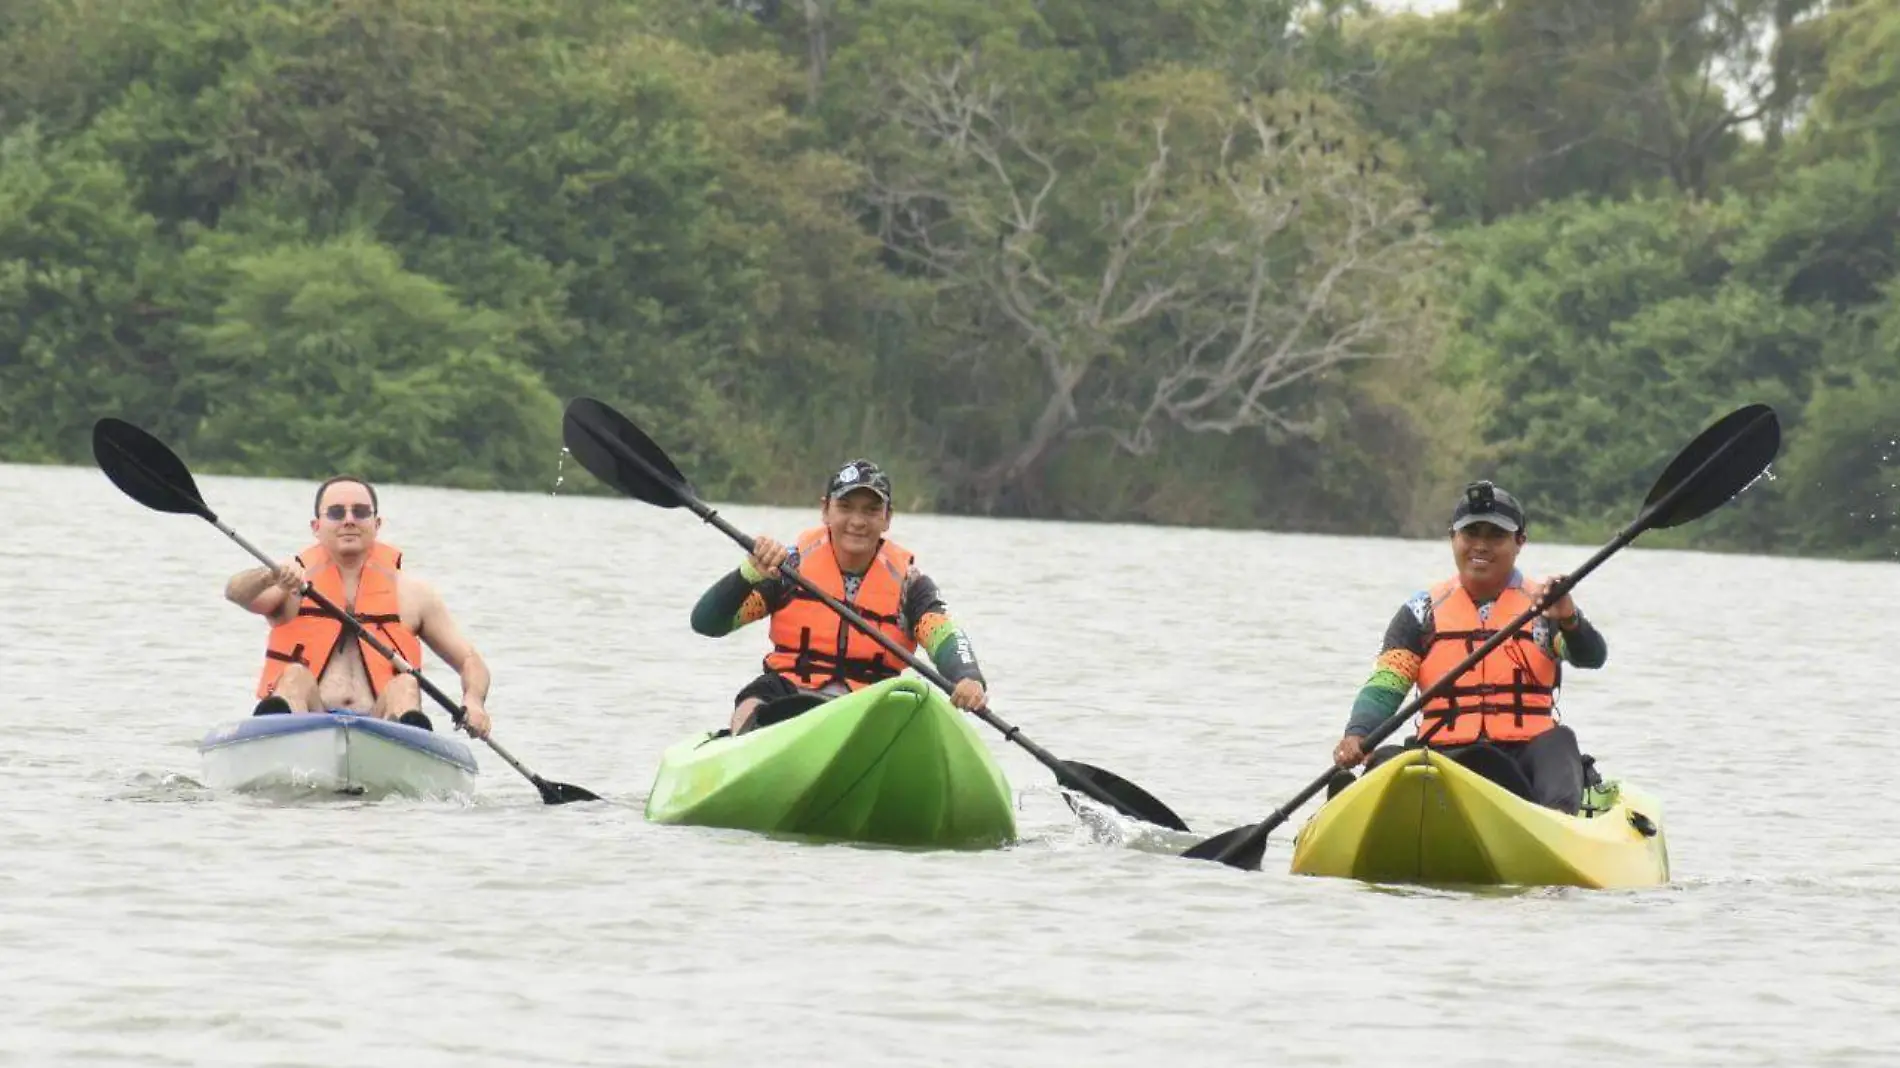
[(238, 258), (213, 321), (186, 333), (213, 464), (522, 488), (560, 458), (560, 405), (511, 359), (511, 323), (369, 238)]

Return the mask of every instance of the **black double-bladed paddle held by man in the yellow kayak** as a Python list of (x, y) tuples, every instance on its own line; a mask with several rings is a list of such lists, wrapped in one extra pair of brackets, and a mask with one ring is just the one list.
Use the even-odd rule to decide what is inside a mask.
[[(1604, 561), (1613, 557), (1619, 549), (1636, 540), (1638, 534), (1649, 528), (1668, 528), (1682, 526), (1716, 511), (1727, 504), (1735, 494), (1748, 488), (1750, 483), (1767, 471), (1769, 462), (1775, 460), (1775, 452), (1780, 448), (1780, 420), (1775, 418), (1775, 409), (1767, 405), (1746, 405), (1737, 409), (1720, 420), (1716, 420), (1708, 429), (1697, 435), (1695, 441), (1683, 448), (1662, 475), (1657, 485), (1644, 498), (1642, 511), (1636, 519), (1623, 528), (1607, 545), (1604, 545), (1594, 557), (1585, 561), (1583, 566), (1566, 574), (1564, 578), (1552, 582), (1535, 604), (1520, 612), (1514, 620), (1505, 623), (1501, 631), (1484, 640), (1478, 648), (1471, 650), (1465, 659), (1457, 661), (1455, 667), (1444, 673), (1431, 688), (1419, 694), (1412, 703), (1404, 705), (1396, 713), (1385, 718), (1378, 730), (1366, 735), (1362, 743), (1370, 753), (1385, 735), (1398, 730), (1398, 726), (1417, 715), (1427, 701), (1440, 697), (1450, 690), (1459, 677), (1471, 671), (1480, 659), (1484, 659), (1501, 642), (1510, 640), (1524, 625), (1537, 618), (1547, 606), (1556, 604), (1564, 599), (1586, 574), (1598, 568)], [(1438, 722), (1444, 722), (1442, 718)], [(1427, 732), (1425, 737), (1429, 737)], [(1260, 859), (1267, 849), (1267, 834), (1275, 827), (1286, 823), (1286, 819), (1300, 810), (1313, 794), (1326, 787), (1332, 779), (1336, 768), (1328, 768), (1324, 775), (1307, 783), (1307, 789), (1300, 791), (1294, 800), (1277, 808), (1273, 815), (1262, 819), (1260, 823), (1250, 823), (1222, 830), (1212, 838), (1205, 838), (1189, 848), (1184, 857), (1195, 861), (1220, 861), (1224, 865), (1260, 870)]]

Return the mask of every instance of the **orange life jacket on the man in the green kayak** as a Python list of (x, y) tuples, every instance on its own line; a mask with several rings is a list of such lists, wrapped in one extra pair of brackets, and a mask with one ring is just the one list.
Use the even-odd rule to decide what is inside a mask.
[[(819, 526), (798, 536), (798, 574), (855, 608), (864, 621), (906, 652), (918, 648), (902, 625), (904, 576), (910, 574), (914, 559), (910, 549), (897, 542), (884, 542), (864, 568), (857, 597), (847, 599), (830, 532)], [(851, 690), (861, 690), (902, 669), (902, 661), (889, 650), (796, 585), (792, 599), (771, 614), (771, 652), (766, 656), (766, 671), (777, 671), (792, 686), (821, 690), (842, 680)]]

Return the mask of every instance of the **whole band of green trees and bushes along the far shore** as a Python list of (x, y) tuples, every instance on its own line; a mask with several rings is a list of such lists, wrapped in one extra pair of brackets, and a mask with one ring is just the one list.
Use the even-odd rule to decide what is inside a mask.
[(1900, 551), (1900, 8), (17, 0), (0, 462), (1429, 538)]

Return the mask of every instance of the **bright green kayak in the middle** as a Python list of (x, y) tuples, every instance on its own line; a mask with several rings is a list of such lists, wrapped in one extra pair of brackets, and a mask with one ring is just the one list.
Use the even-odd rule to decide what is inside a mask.
[(982, 849), (1016, 836), (1003, 770), (969, 718), (918, 678), (673, 745), (646, 817), (887, 846)]

